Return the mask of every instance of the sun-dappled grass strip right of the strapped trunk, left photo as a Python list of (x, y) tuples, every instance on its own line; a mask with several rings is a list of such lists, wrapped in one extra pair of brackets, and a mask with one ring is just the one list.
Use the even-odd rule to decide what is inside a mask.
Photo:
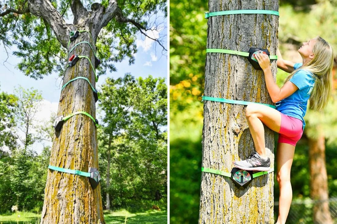
[(106, 224), (162, 224), (167, 223), (167, 211), (162, 212), (145, 212), (145, 213), (136, 213), (136, 214), (114, 214), (114, 213), (104, 213), (104, 220)]

